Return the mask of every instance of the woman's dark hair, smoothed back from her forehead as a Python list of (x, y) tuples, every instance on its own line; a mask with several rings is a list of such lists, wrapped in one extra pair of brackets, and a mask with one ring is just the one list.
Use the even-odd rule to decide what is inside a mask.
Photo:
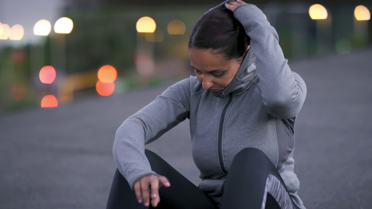
[(189, 49), (215, 49), (227, 59), (242, 58), (250, 38), (228, 9), (215, 9), (196, 21), (189, 37)]

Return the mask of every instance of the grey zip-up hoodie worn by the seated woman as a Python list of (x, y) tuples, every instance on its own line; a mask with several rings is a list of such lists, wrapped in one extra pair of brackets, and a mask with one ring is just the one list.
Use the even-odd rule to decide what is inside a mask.
[(190, 76), (168, 87), (116, 131), (116, 165), (132, 189), (142, 177), (158, 175), (151, 170), (144, 145), (189, 118), (192, 156), (202, 179), (199, 188), (212, 191), (209, 196), (217, 203), (232, 159), (242, 149), (254, 147), (269, 157), (297, 207), (304, 209), (297, 195), (293, 151), (305, 82), (289, 68), (278, 34), (260, 9), (244, 4), (234, 10), (234, 16), (251, 38), (251, 47), (231, 83), (212, 93)]

